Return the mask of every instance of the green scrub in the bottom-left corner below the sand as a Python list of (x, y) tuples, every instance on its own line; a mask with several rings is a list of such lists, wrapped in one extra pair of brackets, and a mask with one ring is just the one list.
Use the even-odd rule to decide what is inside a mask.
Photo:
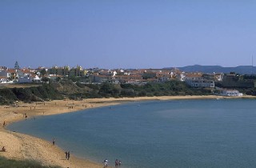
[(60, 168), (60, 166), (42, 166), (39, 162), (25, 160), (18, 161), (0, 157), (0, 168)]

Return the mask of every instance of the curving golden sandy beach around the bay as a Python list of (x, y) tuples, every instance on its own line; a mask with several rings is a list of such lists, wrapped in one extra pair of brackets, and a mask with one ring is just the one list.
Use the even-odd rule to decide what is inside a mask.
[[(146, 100), (174, 100), (174, 99), (214, 99), (227, 98), (221, 96), (162, 96), (142, 98), (94, 98), (81, 101), (56, 100), (50, 102), (17, 102), (12, 106), (0, 106), (0, 148), (5, 146), (6, 152), (0, 152), (0, 156), (14, 159), (32, 159), (42, 162), (45, 166), (62, 166), (72, 168), (102, 168), (102, 163), (90, 162), (89, 160), (74, 157), (65, 159), (65, 151), (58, 147), (58, 141), (53, 146), (47, 142), (30, 135), (19, 134), (6, 130), (3, 126), (11, 122), (18, 122), (27, 118), (36, 118), (39, 115), (52, 115), (75, 112), (99, 106), (113, 106), (124, 102), (146, 101)], [(228, 97), (230, 98), (230, 97)], [(234, 97), (233, 97), (234, 98)], [(235, 97), (238, 98), (238, 97)], [(239, 98), (255, 98), (253, 96), (242, 96)], [(103, 159), (103, 158), (102, 158)]]

